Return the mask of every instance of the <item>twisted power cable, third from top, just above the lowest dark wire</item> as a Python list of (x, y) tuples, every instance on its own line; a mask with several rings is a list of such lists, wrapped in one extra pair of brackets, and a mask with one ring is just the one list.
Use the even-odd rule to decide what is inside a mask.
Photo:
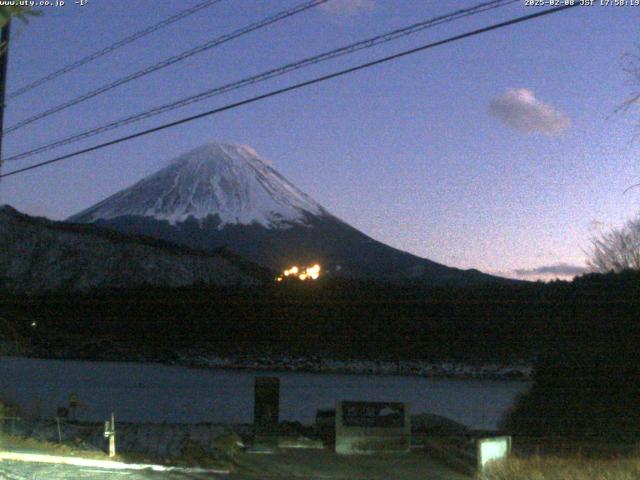
[(53, 149), (56, 149), (58, 147), (64, 146), (64, 145), (69, 145), (71, 143), (75, 143), (78, 142), (80, 140), (84, 140), (90, 137), (93, 137), (95, 135), (101, 134), (101, 133), (105, 133), (108, 132), (110, 130), (114, 130), (116, 128), (125, 126), (125, 125), (129, 125), (131, 123), (135, 123), (147, 118), (151, 118), (157, 115), (160, 115), (162, 113), (166, 113), (172, 110), (175, 110), (177, 108), (181, 108), (193, 103), (197, 103), (197, 102), (201, 102), (203, 100), (206, 100), (208, 98), (217, 96), (217, 95), (221, 95), (233, 90), (238, 90), (242, 87), (248, 86), (248, 85), (253, 85), (265, 80), (269, 80), (271, 78), (274, 77), (278, 77), (281, 75), (284, 75), (286, 73), (292, 72), (294, 70), (299, 70), (301, 68), (305, 68), (307, 66), (311, 66), (311, 65), (315, 65), (327, 60), (331, 60), (333, 58), (337, 58), (343, 55), (347, 55), (347, 54), (351, 54), (354, 52), (357, 52), (359, 50), (363, 50), (366, 48), (372, 48), (374, 46), (383, 44), (383, 43), (387, 43), (393, 40), (396, 40), (398, 38), (401, 37), (405, 37), (420, 31), (423, 31), (425, 29), (428, 28), (432, 28), (438, 25), (442, 25), (444, 23), (449, 23), (449, 22), (453, 22), (455, 20), (464, 18), (464, 17), (468, 17), (468, 16), (472, 16), (472, 15), (477, 15), (479, 13), (488, 11), (488, 10), (493, 10), (496, 8), (500, 8), (503, 6), (507, 6), (516, 2), (520, 2), (520, 0), (492, 0), (489, 2), (485, 2), (485, 3), (481, 3), (479, 5), (476, 5), (474, 7), (470, 7), (470, 8), (466, 8), (466, 9), (461, 9), (461, 10), (456, 10), (454, 12), (450, 12), (448, 14), (445, 15), (441, 15), (435, 18), (431, 18), (422, 22), (418, 22), (415, 23), (413, 25), (410, 25), (408, 27), (404, 27), (401, 29), (396, 29), (393, 30), (391, 32), (387, 32), (387, 33), (383, 33), (380, 35), (376, 35), (374, 37), (368, 38), (366, 40), (362, 40), (356, 43), (352, 43), (349, 44), (347, 46), (344, 47), (340, 47), (334, 50), (329, 50), (327, 52), (321, 53), (319, 55), (314, 55), (312, 57), (307, 57), (304, 58), (302, 60), (299, 60), (297, 62), (293, 62), (293, 63), (289, 63), (274, 69), (270, 69), (267, 70), (265, 72), (259, 73), (257, 75), (253, 75), (251, 77), (248, 78), (244, 78), (242, 80), (238, 80), (236, 82), (232, 82), (232, 83), (228, 83), (226, 85), (222, 85), (220, 87), (215, 87), (212, 89), (208, 89), (204, 92), (198, 93), (196, 95), (191, 95), (189, 97), (186, 98), (182, 98), (180, 100), (165, 104), (165, 105), (161, 105), (155, 108), (152, 108), (150, 110), (146, 110), (143, 111), (141, 113), (137, 113), (135, 115), (131, 115), (128, 117), (124, 117), (112, 122), (107, 123), (106, 125), (102, 125), (99, 127), (94, 127), (91, 128), (89, 130), (85, 130), (83, 132), (80, 133), (76, 133), (73, 134), (69, 137), (65, 137), (63, 139), (60, 140), (56, 140), (54, 142), (33, 148), (31, 150), (25, 151), (25, 152), (21, 152), (15, 155), (12, 155), (10, 157), (5, 158), (5, 161), (13, 161), (13, 160), (21, 160), (24, 158), (28, 158), (31, 157), (33, 155), (36, 155), (38, 153), (43, 153), (43, 152), (47, 152)]

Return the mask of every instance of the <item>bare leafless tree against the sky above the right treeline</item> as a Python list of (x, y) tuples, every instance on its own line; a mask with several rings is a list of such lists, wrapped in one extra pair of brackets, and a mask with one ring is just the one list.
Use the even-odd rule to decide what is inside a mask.
[(640, 216), (594, 237), (587, 265), (603, 273), (640, 270)]

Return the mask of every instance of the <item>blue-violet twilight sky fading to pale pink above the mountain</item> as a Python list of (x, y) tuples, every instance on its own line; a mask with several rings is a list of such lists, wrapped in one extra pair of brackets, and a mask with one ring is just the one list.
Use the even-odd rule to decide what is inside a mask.
[[(197, 3), (89, 0), (14, 26), (8, 90)], [(223, 0), (10, 102), (10, 126), (299, 2)], [(9, 156), (330, 48), (472, 6), (331, 0), (7, 135)], [(524, 0), (20, 162), (26, 166), (272, 88), (533, 13)], [(203, 143), (248, 144), (328, 210), (394, 247), (536, 278), (583, 265), (639, 208), (637, 109), (622, 56), (640, 7), (578, 7), (3, 179), (0, 203), (63, 219)], [(541, 270), (538, 270), (541, 269)], [(571, 271), (571, 270), (569, 270)]]

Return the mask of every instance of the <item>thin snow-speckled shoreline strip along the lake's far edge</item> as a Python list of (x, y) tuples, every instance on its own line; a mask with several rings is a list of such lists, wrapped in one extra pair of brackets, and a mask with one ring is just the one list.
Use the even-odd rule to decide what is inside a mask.
[(533, 368), (518, 362), (514, 364), (477, 364), (459, 362), (425, 361), (372, 361), (372, 360), (326, 360), (266, 357), (240, 358), (211, 355), (185, 356), (176, 365), (191, 368), (216, 370), (256, 370), (317, 374), (351, 374), (374, 376), (414, 376), (423, 378), (473, 379), (473, 380), (519, 380), (530, 381)]

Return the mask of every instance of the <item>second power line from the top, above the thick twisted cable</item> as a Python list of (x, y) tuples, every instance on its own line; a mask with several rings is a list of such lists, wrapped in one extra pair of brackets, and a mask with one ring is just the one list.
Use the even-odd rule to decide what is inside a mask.
[(144, 77), (146, 75), (149, 75), (150, 73), (156, 72), (158, 70), (161, 70), (163, 68), (166, 68), (170, 65), (173, 65), (175, 63), (181, 62), (183, 60), (186, 60), (187, 58), (190, 58), (198, 53), (202, 53), (206, 50), (210, 50), (214, 47), (217, 47), (219, 45), (222, 45), (223, 43), (226, 43), (230, 40), (233, 40), (235, 38), (241, 37), (243, 35), (246, 35), (247, 33), (253, 32), (255, 30), (259, 30), (261, 28), (264, 28), (268, 25), (271, 25), (273, 23), (279, 22), (280, 20), (284, 20), (286, 18), (292, 17), (294, 15), (297, 15), (298, 13), (302, 13), (306, 10), (309, 10), (310, 8), (314, 8), (317, 7), (318, 5), (321, 5), (323, 3), (328, 2), (329, 0), (310, 0), (310, 1), (306, 1), (304, 3), (301, 3), (293, 8), (290, 8), (288, 10), (283, 10), (279, 13), (276, 13), (275, 15), (266, 17), (258, 22), (252, 23), (250, 25), (247, 25), (245, 27), (242, 27), (238, 30), (235, 30), (231, 33), (222, 35), (220, 37), (217, 37), (213, 40), (210, 40), (202, 45), (199, 45), (195, 48), (192, 48), (190, 50), (186, 50), (178, 55), (174, 55), (173, 57), (169, 57), (165, 60), (162, 60), (154, 65), (151, 65), (147, 68), (144, 68), (142, 70), (139, 70), (135, 73), (132, 73), (130, 75), (127, 75), (125, 77), (119, 78), (118, 80), (115, 80), (111, 83), (108, 83), (106, 85), (103, 85), (102, 87), (99, 87), (95, 90), (92, 90), (91, 92), (85, 93), (84, 95), (81, 95), (79, 97), (76, 97), (74, 99), (71, 99), (67, 102), (61, 103), (60, 105), (57, 105), (53, 108), (50, 108), (48, 110), (45, 110), (44, 112), (38, 113), (32, 117), (29, 117), (25, 120), (22, 120), (10, 127), (8, 127), (5, 130), (5, 134), (7, 133), (11, 133), (14, 132), (22, 127), (25, 127), (33, 122), (36, 122), (38, 120), (41, 120), (45, 117), (48, 117), (49, 115), (53, 115), (54, 113), (58, 113), (61, 112), (62, 110), (65, 110), (69, 107), (72, 107), (74, 105), (78, 105), (79, 103), (85, 102), (91, 98), (97, 97), (98, 95), (108, 92), (109, 90), (113, 90), (114, 88), (117, 88), (121, 85), (124, 85), (125, 83), (129, 83), (132, 82), (133, 80), (137, 80), (138, 78)]

